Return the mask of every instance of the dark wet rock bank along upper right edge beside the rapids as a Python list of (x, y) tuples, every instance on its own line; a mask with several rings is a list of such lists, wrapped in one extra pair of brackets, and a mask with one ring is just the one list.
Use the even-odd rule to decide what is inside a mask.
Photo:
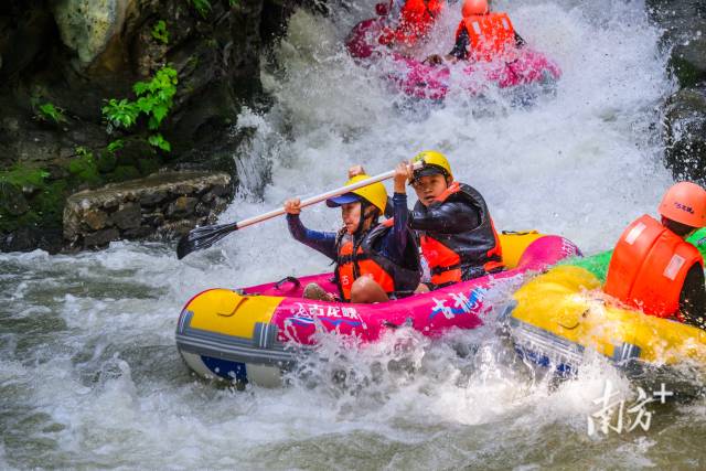
[(664, 29), (680, 84), (665, 104), (665, 162), (676, 180), (706, 184), (706, 2), (649, 0), (648, 7)]

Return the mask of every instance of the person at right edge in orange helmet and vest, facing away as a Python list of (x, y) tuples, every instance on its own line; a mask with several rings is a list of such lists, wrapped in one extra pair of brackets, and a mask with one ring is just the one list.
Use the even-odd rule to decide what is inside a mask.
[(706, 226), (706, 190), (676, 183), (659, 208), (662, 221), (640, 216), (622, 233), (603, 291), (648, 315), (706, 328), (704, 259), (684, 239)]

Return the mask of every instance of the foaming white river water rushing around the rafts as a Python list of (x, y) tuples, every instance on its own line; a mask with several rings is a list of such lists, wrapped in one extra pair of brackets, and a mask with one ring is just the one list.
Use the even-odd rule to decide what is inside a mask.
[[(674, 85), (659, 31), (642, 1), (495, 7), (560, 64), (555, 97), (526, 109), (460, 94), (409, 107), (342, 50), (371, 2), (334, 3), (328, 19), (296, 13), (263, 67), (275, 105), (238, 117), (255, 133), (222, 220), (338, 186), (352, 163), (377, 173), (430, 148), (485, 195), (499, 228), (561, 234), (585, 253), (609, 247), (671, 183), (659, 104)], [(448, 50), (454, 23), (445, 14), (425, 52)], [(334, 229), (340, 216), (321, 205), (302, 217)], [(436, 342), (405, 330), (364, 350), (329, 341), (281, 389), (237, 392), (184, 366), (173, 332), (190, 296), (327, 268), (282, 221), (182, 261), (164, 244), (0, 255), (0, 468), (704, 467), (702, 398), (651, 405), (648, 431), (589, 436), (606, 382), (622, 398), (637, 386), (590, 357), (576, 379), (553, 384), (514, 357), (493, 322)], [(345, 379), (331, 381), (338, 370)]]

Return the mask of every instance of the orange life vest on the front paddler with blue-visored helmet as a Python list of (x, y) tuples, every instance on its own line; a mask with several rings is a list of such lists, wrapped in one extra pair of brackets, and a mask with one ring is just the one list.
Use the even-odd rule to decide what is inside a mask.
[(339, 235), (335, 279), (341, 299), (344, 301), (351, 300), (353, 282), (364, 275), (372, 276), (388, 296), (397, 298), (411, 295), (419, 285), (419, 251), (409, 231), (403, 257), (404, 265), (397, 265), (381, 255), (379, 245), (392, 231), (393, 224), (393, 220), (387, 220), (357, 240), (345, 232)]

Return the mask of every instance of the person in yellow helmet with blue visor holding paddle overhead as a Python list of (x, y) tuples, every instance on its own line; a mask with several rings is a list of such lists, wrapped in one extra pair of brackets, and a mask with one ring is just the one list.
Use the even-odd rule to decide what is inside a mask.
[[(353, 176), (346, 185), (370, 178)], [(407, 167), (395, 172), (394, 218), (378, 224), (385, 213), (387, 191), (382, 183), (354, 190), (327, 201), (329, 207), (341, 207), (344, 227), (336, 233), (308, 229), (301, 223), (299, 199), (285, 202), (291, 235), (302, 244), (335, 261), (335, 281), (345, 302), (383, 302), (414, 292), (421, 277), (419, 251), (407, 228)], [(333, 301), (319, 285), (304, 288), (304, 298)]]

